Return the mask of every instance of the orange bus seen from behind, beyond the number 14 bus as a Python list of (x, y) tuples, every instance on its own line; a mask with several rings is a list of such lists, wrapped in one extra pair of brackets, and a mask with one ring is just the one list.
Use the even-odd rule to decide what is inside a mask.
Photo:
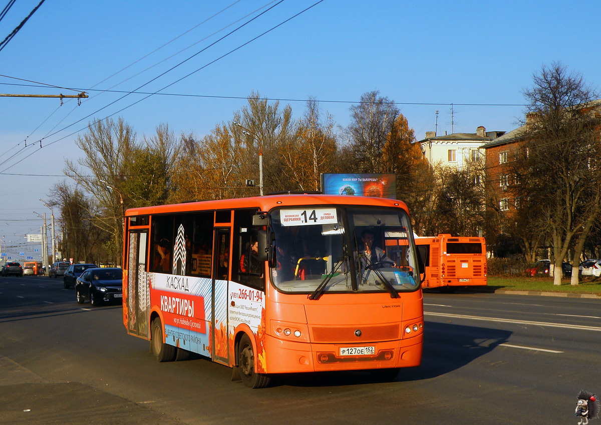
[(415, 237), (426, 272), (424, 288), (453, 291), (457, 286), (486, 286), (486, 242), (484, 238)]

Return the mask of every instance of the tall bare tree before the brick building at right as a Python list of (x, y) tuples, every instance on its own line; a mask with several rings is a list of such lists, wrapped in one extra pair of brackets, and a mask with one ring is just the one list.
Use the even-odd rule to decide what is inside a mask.
[[(530, 123), (518, 158), (520, 187), (535, 202), (541, 231), (549, 229), (555, 270), (575, 245), (572, 285), (584, 241), (600, 214), (600, 103), (595, 89), (561, 63), (543, 65), (525, 89)], [(561, 285), (561, 272), (554, 284)]]

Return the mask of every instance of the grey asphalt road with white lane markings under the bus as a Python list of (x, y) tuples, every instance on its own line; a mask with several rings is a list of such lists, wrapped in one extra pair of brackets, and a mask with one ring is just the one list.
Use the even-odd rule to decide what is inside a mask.
[(0, 277), (0, 424), (576, 424), (578, 391), (601, 396), (601, 300), (432, 292), (424, 309), (423, 364), (394, 381), (287, 375), (249, 390), (204, 358), (156, 363), (121, 306)]

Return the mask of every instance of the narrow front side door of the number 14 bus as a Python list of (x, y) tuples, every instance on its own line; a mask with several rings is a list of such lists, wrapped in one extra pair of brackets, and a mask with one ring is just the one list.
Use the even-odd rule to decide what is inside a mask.
[(228, 337), (228, 286), (230, 279), (230, 229), (215, 230), (213, 244), (213, 315), (211, 357), (218, 363), (229, 365), (230, 339)]

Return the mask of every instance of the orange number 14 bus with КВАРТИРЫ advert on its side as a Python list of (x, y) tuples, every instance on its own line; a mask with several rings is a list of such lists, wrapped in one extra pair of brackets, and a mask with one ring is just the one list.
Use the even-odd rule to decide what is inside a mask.
[[(419, 366), (409, 214), (392, 199), (270, 194), (126, 211), (123, 322), (158, 361), (195, 352), (248, 387), (270, 375)], [(389, 261), (362, 255), (361, 234)]]

